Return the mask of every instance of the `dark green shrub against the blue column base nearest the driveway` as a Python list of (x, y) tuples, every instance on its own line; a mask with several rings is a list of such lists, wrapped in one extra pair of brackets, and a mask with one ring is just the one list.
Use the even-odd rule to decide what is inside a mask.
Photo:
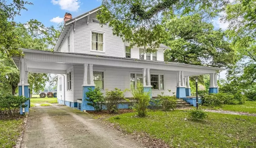
[(95, 111), (101, 111), (102, 110), (102, 105), (105, 102), (105, 98), (102, 95), (103, 93), (100, 91), (100, 88), (95, 88), (92, 90), (92, 88), (88, 88), (88, 92), (86, 92), (86, 97), (89, 99), (85, 99), (88, 101), (88, 105), (94, 107)]

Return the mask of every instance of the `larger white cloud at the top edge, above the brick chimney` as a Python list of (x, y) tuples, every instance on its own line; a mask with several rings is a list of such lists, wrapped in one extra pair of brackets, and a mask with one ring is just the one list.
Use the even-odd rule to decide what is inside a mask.
[(62, 10), (77, 11), (80, 7), (79, 0), (51, 0), (54, 5), (60, 5)]

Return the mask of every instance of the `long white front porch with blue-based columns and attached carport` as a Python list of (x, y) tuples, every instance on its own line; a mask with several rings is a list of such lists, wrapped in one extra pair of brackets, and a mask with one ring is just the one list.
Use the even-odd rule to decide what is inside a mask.
[[(189, 76), (210, 74), (209, 92), (218, 91), (216, 71), (221, 70), (219, 68), (79, 53), (22, 50), (23, 57), (13, 57), (21, 72), (21, 95), (26, 96), (23, 90), (26, 91), (28, 88), (28, 72), (59, 74), (59, 103), (79, 108), (81, 111), (94, 110), (84, 100), (88, 88), (100, 87), (103, 93), (114, 88), (124, 91), (136, 89), (137, 82), (141, 82), (144, 91), (150, 92), (151, 97), (156, 97), (161, 92), (166, 95), (175, 92), (177, 98), (185, 99), (191, 96)], [(125, 97), (132, 97), (131, 92), (126, 91)]]

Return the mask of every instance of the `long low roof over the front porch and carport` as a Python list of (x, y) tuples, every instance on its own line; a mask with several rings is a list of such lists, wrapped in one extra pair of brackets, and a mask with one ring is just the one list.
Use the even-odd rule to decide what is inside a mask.
[[(106, 66), (151, 68), (159, 70), (182, 70), (190, 72), (190, 75), (199, 75), (200, 73), (215, 73), (216, 70), (225, 70), (223, 68), (198, 66), (176, 62), (148, 61), (125, 57), (101, 56), (82, 53), (62, 53), (33, 49), (21, 50), (25, 54), (24, 58), (28, 62), (28, 68), (31, 69), (30, 72), (36, 72), (32, 69), (37, 68), (39, 62), (48, 63), (50, 66), (49, 68), (54, 68), (54, 70), (60, 74), (65, 74), (64, 71), (74, 64), (83, 63), (92, 63)], [(19, 68), (19, 58), (13, 57), (13, 61), (17, 68)], [(177, 67), (180, 67), (180, 69), (177, 69)], [(42, 66), (41, 69), (47, 69), (47, 66)]]

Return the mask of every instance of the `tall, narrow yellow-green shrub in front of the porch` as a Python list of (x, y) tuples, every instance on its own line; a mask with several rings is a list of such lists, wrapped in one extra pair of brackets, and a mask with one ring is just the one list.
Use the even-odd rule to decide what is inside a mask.
[(149, 93), (143, 92), (141, 83), (137, 84), (137, 90), (132, 90), (133, 98), (136, 99), (135, 110), (139, 117), (147, 116), (147, 109), (150, 101)]

